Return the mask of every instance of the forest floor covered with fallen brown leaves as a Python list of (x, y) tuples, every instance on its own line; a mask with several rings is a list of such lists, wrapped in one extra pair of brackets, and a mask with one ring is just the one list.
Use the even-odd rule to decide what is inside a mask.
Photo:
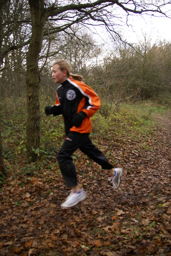
[(171, 113), (157, 123), (147, 135), (97, 142), (123, 168), (118, 190), (106, 170), (76, 153), (87, 199), (73, 208), (60, 207), (70, 189), (59, 170), (8, 175), (0, 190), (0, 255), (171, 255)]

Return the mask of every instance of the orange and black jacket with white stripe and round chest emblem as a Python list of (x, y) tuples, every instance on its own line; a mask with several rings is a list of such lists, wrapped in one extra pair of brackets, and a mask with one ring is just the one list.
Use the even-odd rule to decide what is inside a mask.
[[(62, 114), (64, 117), (66, 135), (69, 132), (90, 133), (92, 129), (91, 116), (100, 107), (100, 99), (89, 86), (69, 77), (56, 92), (54, 116)], [(83, 111), (86, 114), (79, 127), (72, 126), (72, 119)]]

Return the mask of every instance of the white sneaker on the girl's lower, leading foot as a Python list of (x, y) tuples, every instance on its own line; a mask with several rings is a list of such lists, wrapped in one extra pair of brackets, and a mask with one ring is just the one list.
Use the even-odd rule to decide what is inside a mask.
[(82, 202), (86, 197), (87, 195), (83, 188), (78, 193), (74, 193), (74, 191), (71, 190), (71, 193), (66, 198), (65, 202), (61, 204), (61, 207), (69, 208), (69, 207), (75, 206), (79, 202)]

